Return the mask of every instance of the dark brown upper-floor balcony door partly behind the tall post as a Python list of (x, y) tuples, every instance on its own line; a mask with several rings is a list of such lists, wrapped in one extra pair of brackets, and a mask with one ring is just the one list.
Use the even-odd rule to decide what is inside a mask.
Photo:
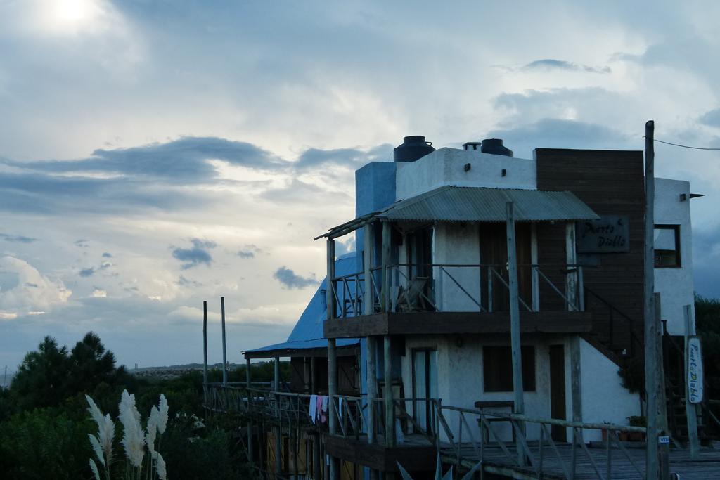
[[(483, 266), (494, 266), (505, 283), (508, 280), (508, 239), (507, 227), (504, 223), (480, 224), (480, 263)], [(531, 271), (531, 225), (530, 223), (515, 224), (515, 246), (518, 258), (518, 294), (528, 305), (532, 304), (532, 271)], [(482, 304), (488, 305), (487, 268), (481, 269)], [(510, 309), (510, 292), (497, 276), (492, 276), (492, 311), (507, 312)]]

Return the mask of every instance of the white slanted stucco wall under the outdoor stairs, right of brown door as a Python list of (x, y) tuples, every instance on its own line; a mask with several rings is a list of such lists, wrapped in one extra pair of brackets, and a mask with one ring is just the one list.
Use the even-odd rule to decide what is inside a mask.
[[(566, 357), (567, 351), (566, 349)], [(570, 363), (566, 363), (566, 376)], [(569, 378), (567, 379), (569, 381)], [(570, 387), (570, 383), (567, 384)], [(572, 397), (572, 391), (568, 388)], [(640, 415), (638, 394), (631, 394), (618, 375), (618, 366), (593, 345), (580, 338), (580, 391), (582, 391), (582, 420), (628, 425), (628, 417)], [(569, 410), (570, 412), (570, 410)], [(569, 416), (571, 418), (572, 415)], [(602, 440), (600, 430), (586, 430), (586, 442)]]

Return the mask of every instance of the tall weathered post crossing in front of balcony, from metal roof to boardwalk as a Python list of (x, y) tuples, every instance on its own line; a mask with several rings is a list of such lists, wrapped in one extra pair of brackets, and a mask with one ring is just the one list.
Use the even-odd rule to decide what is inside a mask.
[[(507, 227), (508, 240), (508, 276), (510, 277), (510, 345), (513, 355), (513, 392), (515, 393), (513, 412), (523, 415), (525, 402), (523, 399), (523, 362), (520, 347), (520, 304), (518, 302), (518, 258), (515, 247), (515, 216), (513, 202), (508, 201)], [(520, 424), (521, 430), (524, 425)], [(520, 435), (518, 435), (518, 461), (525, 464), (525, 456), (521, 448)]]

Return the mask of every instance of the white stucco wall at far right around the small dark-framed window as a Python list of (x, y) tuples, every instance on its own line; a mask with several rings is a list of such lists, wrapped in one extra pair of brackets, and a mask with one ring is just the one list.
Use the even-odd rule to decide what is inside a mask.
[[(680, 194), (687, 199), (680, 201)], [(662, 320), (672, 335), (685, 333), (683, 306), (694, 309), (692, 225), (690, 224), (690, 182), (655, 178), (655, 224), (680, 225), (681, 268), (655, 268), (655, 291), (660, 293)], [(694, 315), (693, 315), (694, 318)]]

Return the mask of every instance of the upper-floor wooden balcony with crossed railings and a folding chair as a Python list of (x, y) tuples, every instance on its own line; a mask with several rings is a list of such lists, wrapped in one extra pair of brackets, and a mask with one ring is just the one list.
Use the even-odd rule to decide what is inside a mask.
[[(521, 332), (585, 333), (582, 266), (522, 265)], [(562, 272), (557, 284), (545, 272)], [(418, 272), (423, 274), (418, 275)], [(325, 338), (368, 335), (508, 333), (507, 269), (497, 265), (400, 264), (352, 273), (330, 283), (336, 312)]]

